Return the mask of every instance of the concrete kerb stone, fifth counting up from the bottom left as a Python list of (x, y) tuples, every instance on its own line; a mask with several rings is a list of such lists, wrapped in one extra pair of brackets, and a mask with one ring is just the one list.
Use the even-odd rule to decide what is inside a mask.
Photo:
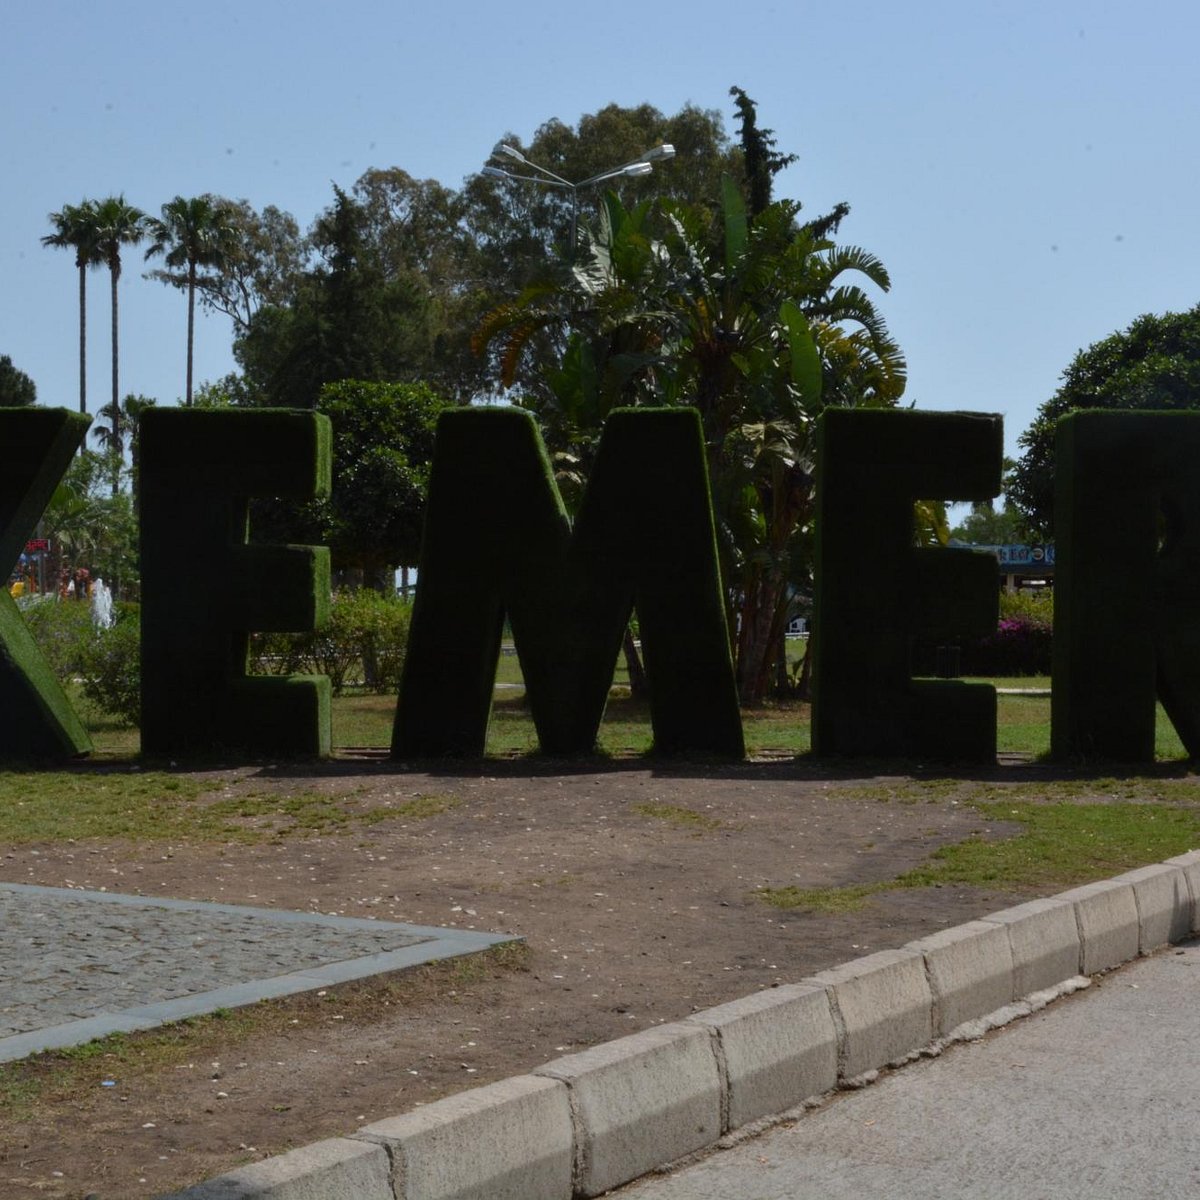
[(829, 995), (842, 1080), (896, 1062), (934, 1037), (934, 997), (918, 950), (880, 950), (802, 983)]

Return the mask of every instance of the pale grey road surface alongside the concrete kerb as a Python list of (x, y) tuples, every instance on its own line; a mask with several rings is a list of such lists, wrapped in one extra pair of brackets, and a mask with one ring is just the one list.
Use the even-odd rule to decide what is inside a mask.
[(1200, 1196), (1200, 944), (620, 1200)]

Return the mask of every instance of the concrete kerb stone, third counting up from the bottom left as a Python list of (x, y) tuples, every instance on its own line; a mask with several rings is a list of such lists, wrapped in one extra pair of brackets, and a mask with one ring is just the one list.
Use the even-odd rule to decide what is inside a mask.
[(660, 1025), (534, 1074), (570, 1088), (577, 1195), (600, 1195), (721, 1135), (716, 1049), (700, 1025)]

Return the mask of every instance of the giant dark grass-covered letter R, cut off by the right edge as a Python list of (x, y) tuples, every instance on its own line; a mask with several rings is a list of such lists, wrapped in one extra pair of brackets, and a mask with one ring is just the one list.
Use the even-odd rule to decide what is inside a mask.
[(1055, 446), (1051, 751), (1200, 756), (1200, 413), (1072, 413)]

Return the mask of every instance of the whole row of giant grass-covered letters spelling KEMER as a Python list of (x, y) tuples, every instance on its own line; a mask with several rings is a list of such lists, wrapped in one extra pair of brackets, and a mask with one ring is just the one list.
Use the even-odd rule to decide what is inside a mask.
[[(86, 427), (0, 410), (10, 570)], [(916, 547), (912, 503), (994, 496), (1000, 418), (830, 409), (818, 438), (814, 750), (994, 758), (992, 689), (913, 680), (910, 656), (995, 628), (995, 562)], [(1075, 413), (1056, 454), (1054, 754), (1152, 761), (1157, 696), (1200, 757), (1200, 413)], [(140, 467), (143, 750), (326, 754), (329, 680), (246, 661), (252, 630), (328, 614), (326, 550), (247, 544), (250, 497), (328, 492), (328, 420), (152, 409)], [(444, 414), (392, 754), (482, 754), (505, 617), (542, 749), (589, 752), (635, 608), (655, 748), (740, 757), (696, 412), (614, 412), (574, 527), (527, 413)], [(90, 749), (2, 589), (0, 714), (0, 755)]]

